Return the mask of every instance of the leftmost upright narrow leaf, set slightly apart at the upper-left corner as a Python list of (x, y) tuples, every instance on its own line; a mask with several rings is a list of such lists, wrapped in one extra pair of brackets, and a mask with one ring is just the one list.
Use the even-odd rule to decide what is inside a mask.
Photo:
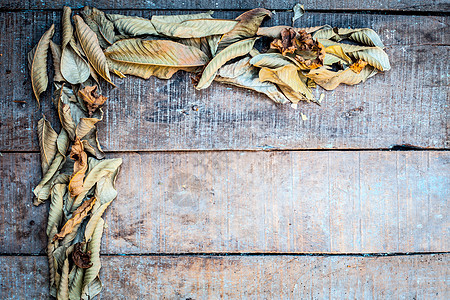
[(38, 44), (28, 53), (28, 67), (31, 75), (31, 85), (34, 96), (39, 104), (39, 96), (47, 89), (47, 53), (50, 41), (55, 33), (55, 25), (42, 35)]

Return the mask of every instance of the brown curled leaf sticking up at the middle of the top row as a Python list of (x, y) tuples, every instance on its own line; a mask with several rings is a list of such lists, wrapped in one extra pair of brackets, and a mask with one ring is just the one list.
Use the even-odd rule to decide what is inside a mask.
[(272, 13), (264, 8), (255, 8), (237, 17), (236, 20), (239, 23), (233, 30), (223, 35), (217, 46), (217, 53), (240, 40), (254, 37), (262, 21), (267, 16), (271, 17)]

